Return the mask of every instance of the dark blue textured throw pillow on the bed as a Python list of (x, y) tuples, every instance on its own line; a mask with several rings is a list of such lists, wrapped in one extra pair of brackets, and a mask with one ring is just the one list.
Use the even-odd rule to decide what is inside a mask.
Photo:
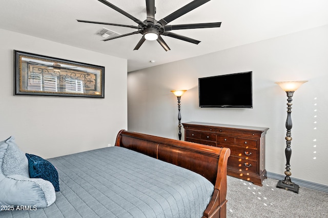
[(25, 154), (29, 161), (30, 178), (40, 178), (52, 183), (55, 191), (59, 191), (59, 180), (57, 169), (42, 157)]

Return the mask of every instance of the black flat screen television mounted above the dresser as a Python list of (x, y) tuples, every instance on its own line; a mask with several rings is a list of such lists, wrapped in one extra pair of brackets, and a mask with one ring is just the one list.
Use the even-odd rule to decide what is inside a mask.
[(253, 108), (252, 71), (198, 78), (199, 107)]

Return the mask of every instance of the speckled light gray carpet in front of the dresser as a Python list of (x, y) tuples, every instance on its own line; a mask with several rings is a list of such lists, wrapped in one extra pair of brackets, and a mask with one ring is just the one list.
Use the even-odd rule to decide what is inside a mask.
[(227, 217), (328, 217), (328, 193), (300, 186), (299, 193), (276, 188), (278, 180), (263, 186), (228, 176)]

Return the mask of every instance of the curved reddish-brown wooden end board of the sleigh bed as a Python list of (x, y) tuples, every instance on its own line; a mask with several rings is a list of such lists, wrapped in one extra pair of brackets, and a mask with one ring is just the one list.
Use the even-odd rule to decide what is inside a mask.
[(212, 199), (203, 217), (226, 217), (227, 162), (230, 149), (121, 130), (115, 146), (187, 168), (214, 185)]

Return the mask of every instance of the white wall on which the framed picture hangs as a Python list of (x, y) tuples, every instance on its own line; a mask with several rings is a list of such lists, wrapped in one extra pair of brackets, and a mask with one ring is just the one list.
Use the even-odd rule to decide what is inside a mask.
[[(105, 66), (105, 99), (14, 96), (13, 50)], [(0, 65), (0, 140), (50, 158), (113, 145), (127, 129), (127, 60), (0, 30)]]

